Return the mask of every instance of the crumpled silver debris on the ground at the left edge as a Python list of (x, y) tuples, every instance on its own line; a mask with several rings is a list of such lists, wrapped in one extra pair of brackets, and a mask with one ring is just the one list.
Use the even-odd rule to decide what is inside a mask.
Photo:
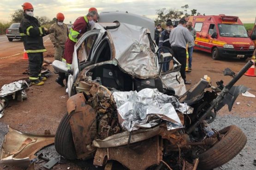
[(8, 85), (3, 85), (0, 90), (0, 96), (9, 96), (12, 95), (12, 98), (17, 98), (18, 101), (22, 101), (27, 98), (27, 94), (25, 89), (28, 88), (29, 85), (25, 80), (14, 81)]

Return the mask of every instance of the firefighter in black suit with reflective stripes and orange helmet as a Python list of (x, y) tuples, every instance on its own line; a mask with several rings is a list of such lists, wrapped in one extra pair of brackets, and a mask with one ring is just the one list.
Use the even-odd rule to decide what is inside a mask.
[(20, 22), (19, 32), (29, 57), (30, 82), (32, 85), (43, 85), (46, 77), (41, 76), (41, 67), (46, 49), (42, 37), (48, 33), (48, 29), (40, 27), (38, 20), (33, 17), (34, 8), (29, 2), (25, 2), (22, 7), (24, 17)]

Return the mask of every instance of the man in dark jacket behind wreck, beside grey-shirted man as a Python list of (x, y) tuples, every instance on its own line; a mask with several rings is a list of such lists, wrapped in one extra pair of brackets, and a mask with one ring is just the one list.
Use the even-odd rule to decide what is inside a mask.
[[(165, 47), (168, 47), (168, 48), (171, 48), (171, 44), (170, 44), (170, 32), (171, 30), (173, 29), (173, 23), (172, 23), (172, 20), (168, 19), (166, 21), (166, 26), (165, 26), (165, 30), (163, 32), (161, 32), (161, 35), (160, 35), (160, 38), (159, 38), (159, 45), (158, 47), (162, 47), (162, 46), (165, 46)], [(162, 49), (160, 50), (160, 53), (163, 53), (163, 52), (169, 52), (168, 50), (166, 49)], [(164, 58), (164, 62), (165, 61), (168, 61), (169, 58)], [(165, 62), (163, 63), (163, 68), (162, 68), (162, 71), (163, 72), (166, 72), (169, 70), (169, 65), (170, 65), (170, 62)]]

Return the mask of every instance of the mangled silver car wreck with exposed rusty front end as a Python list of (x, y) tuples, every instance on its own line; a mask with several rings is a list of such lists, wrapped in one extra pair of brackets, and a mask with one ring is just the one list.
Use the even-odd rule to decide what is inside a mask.
[[(233, 85), (251, 61), (226, 86), (219, 81), (214, 87), (206, 78), (186, 91), (179, 62), (171, 50), (158, 55), (147, 28), (96, 23), (77, 42), (78, 55), (83, 42), (82, 56), (74, 52), (71, 70), (55, 62), (55, 68), (69, 72), (68, 81), (74, 82), (55, 135), (60, 155), (94, 158), (97, 166), (116, 160), (130, 170), (162, 164), (177, 170), (208, 170), (227, 163), (245, 146), (247, 138), (237, 126), (217, 131), (209, 123), (225, 104), (231, 110), (238, 94), (247, 90)], [(165, 73), (164, 57), (173, 60)]]

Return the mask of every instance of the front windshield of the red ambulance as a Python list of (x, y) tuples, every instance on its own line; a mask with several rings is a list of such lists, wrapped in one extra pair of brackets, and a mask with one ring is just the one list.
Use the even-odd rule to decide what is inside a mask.
[(218, 27), (220, 30), (220, 36), (222, 37), (248, 37), (244, 25), (218, 24)]

